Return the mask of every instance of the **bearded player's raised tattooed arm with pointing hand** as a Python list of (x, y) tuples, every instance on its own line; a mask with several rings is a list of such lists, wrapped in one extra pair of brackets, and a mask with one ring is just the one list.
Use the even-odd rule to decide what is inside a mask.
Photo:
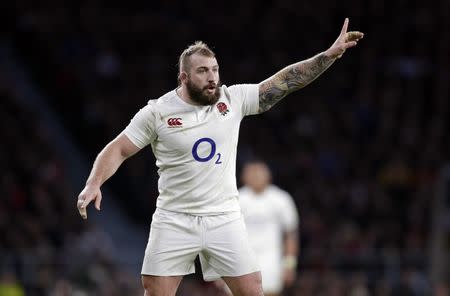
[(259, 84), (259, 113), (269, 110), (282, 98), (299, 90), (320, 76), (333, 62), (340, 58), (347, 48), (356, 46), (364, 34), (347, 32), (348, 18), (336, 41), (326, 51), (316, 56), (289, 65)]

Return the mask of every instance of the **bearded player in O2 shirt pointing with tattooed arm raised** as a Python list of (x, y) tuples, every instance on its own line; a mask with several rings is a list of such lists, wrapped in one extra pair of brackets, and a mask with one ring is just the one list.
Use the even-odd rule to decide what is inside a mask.
[[(248, 243), (236, 186), (236, 151), (243, 117), (265, 112), (299, 90), (356, 46), (347, 32), (324, 52), (289, 65), (259, 84), (221, 86), (215, 54), (202, 42), (179, 60), (179, 86), (150, 100), (97, 156), (77, 208), (100, 210), (100, 187), (129, 157), (152, 146), (159, 196), (142, 266), (146, 296), (174, 296), (200, 256), (207, 281), (222, 278), (235, 296), (264, 295)], [(124, 197), (126, 198), (126, 197)]]

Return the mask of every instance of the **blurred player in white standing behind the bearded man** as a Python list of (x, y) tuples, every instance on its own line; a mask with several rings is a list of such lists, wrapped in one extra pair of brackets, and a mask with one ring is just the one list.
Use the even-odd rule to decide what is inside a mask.
[(263, 162), (247, 163), (239, 203), (250, 246), (261, 268), (264, 295), (278, 296), (296, 279), (299, 218), (291, 195), (272, 184)]

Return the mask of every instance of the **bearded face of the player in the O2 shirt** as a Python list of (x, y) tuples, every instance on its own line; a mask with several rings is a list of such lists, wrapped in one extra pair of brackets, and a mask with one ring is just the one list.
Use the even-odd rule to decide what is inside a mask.
[(219, 65), (214, 57), (193, 54), (189, 60), (186, 89), (192, 101), (207, 106), (220, 97)]

